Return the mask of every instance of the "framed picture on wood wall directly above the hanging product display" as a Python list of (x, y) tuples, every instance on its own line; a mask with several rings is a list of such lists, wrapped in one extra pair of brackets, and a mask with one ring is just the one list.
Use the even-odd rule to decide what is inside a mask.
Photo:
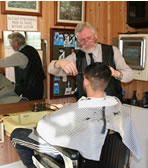
[(56, 1), (55, 25), (76, 26), (85, 21), (85, 1)]

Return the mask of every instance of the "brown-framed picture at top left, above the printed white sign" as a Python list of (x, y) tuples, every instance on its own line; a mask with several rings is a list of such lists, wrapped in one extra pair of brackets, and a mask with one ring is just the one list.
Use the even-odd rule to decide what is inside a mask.
[(2, 13), (14, 15), (42, 15), (42, 2), (40, 1), (2, 1)]

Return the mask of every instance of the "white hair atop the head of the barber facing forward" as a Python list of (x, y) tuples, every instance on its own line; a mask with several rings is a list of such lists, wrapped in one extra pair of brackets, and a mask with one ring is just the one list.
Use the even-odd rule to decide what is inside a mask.
[(76, 28), (75, 28), (75, 36), (78, 36), (78, 33), (82, 32), (85, 28), (90, 28), (92, 33), (95, 35), (96, 34), (96, 30), (95, 28), (89, 24), (88, 22), (84, 22), (84, 23), (79, 23)]

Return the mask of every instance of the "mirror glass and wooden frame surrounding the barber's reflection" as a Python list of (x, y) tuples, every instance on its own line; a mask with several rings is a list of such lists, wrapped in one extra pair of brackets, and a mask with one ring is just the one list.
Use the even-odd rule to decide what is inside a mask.
[[(12, 31), (3, 31), (3, 46), (4, 46), (4, 54), (5, 57), (10, 56), (15, 51), (12, 49), (12, 47), (9, 44), (8, 35), (11, 34)], [(28, 45), (33, 46), (39, 53), (42, 66), (44, 69), (45, 76), (47, 77), (47, 65), (46, 65), (46, 44), (47, 42), (45, 40), (41, 40), (41, 32), (20, 32), (24, 36), (26, 36), (26, 42)], [(4, 74), (4, 75), (3, 75)], [(14, 68), (0, 68), (0, 104), (9, 104), (9, 103), (16, 103), (20, 102), (22, 98), (15, 95), (14, 92), (14, 84), (12, 82), (15, 82), (14, 77)], [(12, 82), (10, 82), (10, 81)], [(47, 98), (47, 84), (46, 79), (44, 79), (44, 96), (43, 99)], [(4, 97), (4, 100), (2, 98)], [(23, 100), (26, 101), (26, 100)]]

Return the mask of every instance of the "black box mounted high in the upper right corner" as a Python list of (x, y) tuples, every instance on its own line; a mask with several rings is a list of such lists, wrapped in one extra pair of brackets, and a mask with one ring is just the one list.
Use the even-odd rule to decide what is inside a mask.
[(127, 2), (127, 24), (135, 28), (148, 27), (148, 2)]

